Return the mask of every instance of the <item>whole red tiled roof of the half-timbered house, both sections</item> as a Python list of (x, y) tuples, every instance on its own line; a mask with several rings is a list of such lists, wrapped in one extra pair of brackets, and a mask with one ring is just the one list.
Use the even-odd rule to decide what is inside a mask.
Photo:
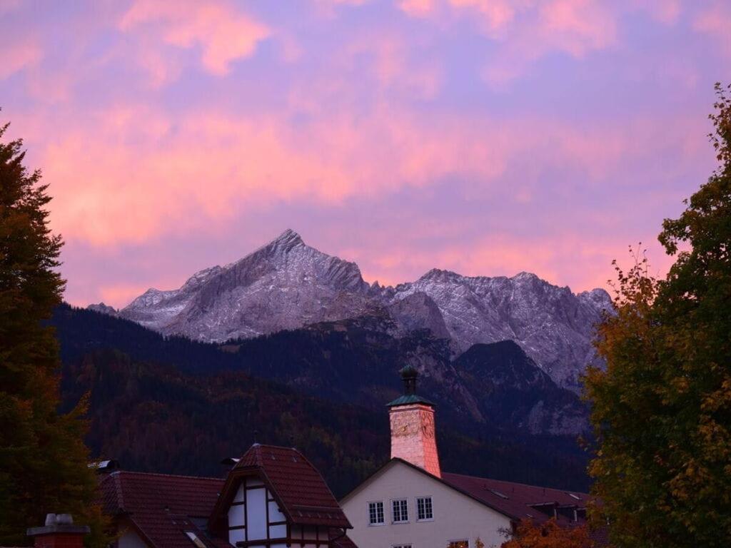
[[(105, 512), (154, 548), (195, 548), (186, 533), (194, 533), (208, 548), (230, 548), (227, 540), (205, 534), (196, 524), (207, 523), (216, 509), (226, 513), (221, 494), (238, 487), (244, 475), (268, 484), (292, 523), (351, 527), (317, 469), (296, 449), (285, 447), (255, 444), (225, 480), (115, 471), (100, 480), (99, 492)], [(346, 537), (336, 544), (355, 546)]]

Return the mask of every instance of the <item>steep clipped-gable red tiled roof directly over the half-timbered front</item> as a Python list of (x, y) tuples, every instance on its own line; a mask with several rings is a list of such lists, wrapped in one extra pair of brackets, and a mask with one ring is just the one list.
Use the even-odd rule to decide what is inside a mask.
[(211, 520), (227, 511), (243, 476), (259, 476), (294, 524), (352, 528), (325, 479), (302, 453), (261, 444), (251, 446), (232, 468)]

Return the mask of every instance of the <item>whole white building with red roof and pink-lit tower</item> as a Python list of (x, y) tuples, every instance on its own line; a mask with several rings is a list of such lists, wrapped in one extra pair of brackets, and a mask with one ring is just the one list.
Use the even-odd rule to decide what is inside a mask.
[(584, 493), (442, 473), (434, 405), (401, 371), (405, 394), (389, 404), (391, 460), (341, 500), (360, 548), (499, 547), (520, 520), (586, 521)]

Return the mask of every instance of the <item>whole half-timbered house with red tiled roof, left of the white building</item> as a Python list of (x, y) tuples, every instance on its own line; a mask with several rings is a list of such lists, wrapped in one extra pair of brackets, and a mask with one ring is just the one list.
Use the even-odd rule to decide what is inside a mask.
[(345, 514), (297, 449), (254, 444), (225, 479), (104, 473), (115, 548), (355, 548)]

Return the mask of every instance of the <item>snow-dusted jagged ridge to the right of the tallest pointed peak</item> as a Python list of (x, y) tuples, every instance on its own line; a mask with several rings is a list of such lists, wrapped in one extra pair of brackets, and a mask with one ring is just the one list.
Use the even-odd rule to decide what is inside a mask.
[(603, 289), (573, 294), (530, 273), (486, 278), (431, 270), (413, 283), (383, 290), (397, 302), (416, 293), (436, 303), (461, 350), (514, 340), (557, 384), (567, 387), (575, 387), (577, 374), (594, 361), (594, 326), (611, 308)]

